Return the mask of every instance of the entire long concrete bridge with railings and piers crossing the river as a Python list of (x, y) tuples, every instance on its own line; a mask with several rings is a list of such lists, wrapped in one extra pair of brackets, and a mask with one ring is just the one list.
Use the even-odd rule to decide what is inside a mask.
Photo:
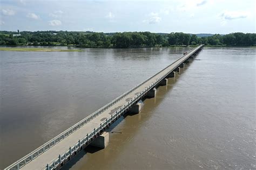
[(180, 68), (197, 55), (203, 46), (199, 45), (184, 54), (159, 73), (120, 95), (5, 169), (58, 169), (87, 145), (106, 147), (109, 133), (105, 132), (105, 129), (126, 112), (138, 113), (141, 108), (139, 101), (146, 97), (154, 97), (156, 88), (167, 85), (168, 78), (180, 72)]

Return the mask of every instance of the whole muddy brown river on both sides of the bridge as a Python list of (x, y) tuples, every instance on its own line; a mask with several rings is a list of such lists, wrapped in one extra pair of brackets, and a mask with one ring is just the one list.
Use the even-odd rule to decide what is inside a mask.
[[(191, 48), (0, 52), (0, 169)], [(255, 48), (205, 47), (63, 169), (256, 169)]]

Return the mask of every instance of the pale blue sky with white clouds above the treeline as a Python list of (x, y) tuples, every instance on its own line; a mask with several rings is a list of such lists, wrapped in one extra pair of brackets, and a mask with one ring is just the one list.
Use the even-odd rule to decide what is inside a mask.
[(0, 30), (255, 33), (255, 0), (0, 0)]

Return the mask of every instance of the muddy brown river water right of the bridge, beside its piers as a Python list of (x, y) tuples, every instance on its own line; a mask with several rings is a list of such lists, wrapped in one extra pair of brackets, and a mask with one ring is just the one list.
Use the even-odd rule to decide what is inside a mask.
[(64, 169), (256, 169), (255, 49), (205, 47)]

